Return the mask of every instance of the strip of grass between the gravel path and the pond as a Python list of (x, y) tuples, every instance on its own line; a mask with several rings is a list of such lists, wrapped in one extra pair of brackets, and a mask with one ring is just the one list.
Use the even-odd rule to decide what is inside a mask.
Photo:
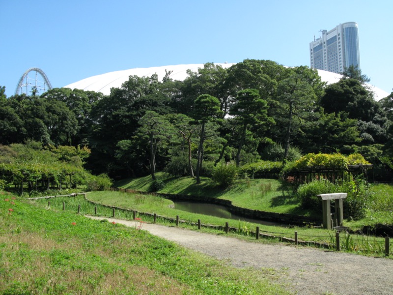
[[(191, 230), (197, 230), (196, 225), (200, 219), (203, 224), (219, 225), (224, 226), (225, 222), (229, 223), (230, 227), (236, 229), (236, 233), (230, 233), (228, 235), (235, 235), (256, 242), (255, 236), (251, 232), (255, 233), (256, 227), (260, 228), (260, 233), (270, 236), (294, 238), (295, 231), (298, 233), (299, 240), (315, 241), (319, 243), (329, 243), (332, 249), (335, 248), (335, 232), (325, 229), (315, 229), (309, 227), (302, 228), (283, 228), (276, 226), (265, 226), (260, 224), (254, 224), (249, 222), (243, 222), (239, 220), (225, 219), (214, 216), (207, 216), (202, 214), (195, 214), (186, 211), (176, 210), (168, 207), (171, 201), (163, 199), (157, 196), (151, 195), (140, 195), (130, 194), (125, 192), (94, 192), (87, 194), (87, 199), (107, 205), (116, 206), (128, 210), (115, 210), (115, 218), (133, 220), (133, 210), (139, 212), (156, 213), (159, 216), (175, 219), (176, 215), (179, 216), (180, 220), (186, 221), (180, 223), (179, 227), (185, 227)], [(48, 208), (48, 200), (41, 199), (34, 201), (36, 204), (40, 204), (42, 207)], [(71, 212), (76, 212), (80, 205), (81, 214), (94, 214), (94, 207), (97, 207), (97, 215), (104, 217), (112, 217), (112, 208), (97, 206), (84, 200), (84, 197), (65, 197), (56, 198), (50, 200), (50, 208), (55, 210), (62, 210), (62, 202), (65, 203), (65, 209)], [(143, 214), (137, 214), (137, 218), (141, 218), (146, 222), (153, 222), (152, 216), (146, 216)], [(157, 223), (161, 223), (167, 226), (174, 226), (174, 221), (170, 222), (166, 219), (157, 219)], [(143, 225), (141, 225), (143, 227)], [(223, 230), (212, 230), (210, 228), (201, 228), (200, 231), (209, 232), (215, 235), (224, 235)], [(240, 235), (240, 236), (239, 236)], [(258, 242), (279, 242), (279, 239), (259, 239)], [(348, 235), (344, 232), (340, 233), (340, 245), (341, 249), (348, 252), (355, 252), (364, 255), (373, 256), (384, 256), (384, 242), (383, 238), (373, 236), (360, 236), (360, 235)], [(393, 244), (393, 241), (392, 241)], [(391, 246), (392, 247), (392, 246)]]

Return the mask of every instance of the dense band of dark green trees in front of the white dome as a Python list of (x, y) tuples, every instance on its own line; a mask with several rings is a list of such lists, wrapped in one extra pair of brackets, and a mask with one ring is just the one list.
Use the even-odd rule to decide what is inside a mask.
[(198, 180), (220, 161), (310, 152), (360, 153), (380, 176), (392, 166), (393, 92), (376, 102), (356, 68), (329, 86), (307, 66), (254, 59), (169, 77), (130, 76), (108, 96), (62, 88), (7, 98), (0, 88), (0, 144), (88, 147), (85, 167), (114, 178), (166, 170)]

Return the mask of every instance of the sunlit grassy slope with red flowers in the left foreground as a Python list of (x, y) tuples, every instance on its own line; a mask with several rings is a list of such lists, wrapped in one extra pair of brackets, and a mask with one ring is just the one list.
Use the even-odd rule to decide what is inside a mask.
[(271, 269), (234, 269), (145, 231), (25, 202), (0, 199), (0, 294), (287, 294), (266, 279)]

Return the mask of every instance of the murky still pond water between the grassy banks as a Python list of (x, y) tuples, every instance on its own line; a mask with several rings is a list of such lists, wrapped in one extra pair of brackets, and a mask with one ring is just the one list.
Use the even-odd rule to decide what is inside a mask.
[(239, 216), (229, 212), (228, 208), (221, 205), (215, 204), (207, 204), (207, 203), (195, 203), (195, 202), (187, 202), (187, 201), (173, 201), (175, 204), (175, 209), (187, 211), (191, 213), (198, 213), (216, 217), (222, 217), (227, 219), (234, 219), (234, 220), (242, 220), (246, 222), (253, 222), (262, 225), (274, 225), (274, 226), (282, 226), (287, 227), (286, 224), (271, 222), (271, 221), (264, 221), (259, 219), (252, 219), (243, 216)]

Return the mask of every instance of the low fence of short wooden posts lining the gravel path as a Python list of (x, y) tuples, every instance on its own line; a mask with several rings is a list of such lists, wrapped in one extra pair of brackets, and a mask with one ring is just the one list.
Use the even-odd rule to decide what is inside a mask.
[[(28, 198), (29, 200), (37, 200), (37, 199), (51, 199), (51, 198), (57, 198), (57, 197), (77, 197), (79, 195), (84, 196), (84, 200), (87, 203), (90, 203), (94, 205), (94, 214), (97, 215), (97, 206), (99, 207), (104, 207), (104, 208), (110, 208), (112, 209), (112, 218), (115, 217), (115, 212), (116, 210), (123, 211), (123, 212), (128, 212), (128, 213), (133, 213), (133, 219), (136, 219), (136, 216), (146, 216), (149, 217), (150, 219), (153, 219), (153, 222), (156, 223), (157, 218), (163, 220), (163, 221), (169, 221), (171, 223), (175, 223), (176, 226), (179, 225), (179, 223), (183, 223), (186, 225), (191, 225), (191, 226), (197, 226), (198, 229), (201, 227), (204, 228), (209, 228), (213, 230), (219, 230), (219, 231), (225, 231), (225, 233), (241, 233), (241, 234), (247, 234), (247, 236), (255, 236), (256, 239), (259, 239), (260, 237), (262, 238), (267, 238), (267, 239), (277, 239), (281, 242), (287, 242), (287, 243), (293, 243), (296, 245), (304, 245), (304, 246), (314, 246), (314, 247), (319, 247), (319, 248), (324, 248), (324, 249), (336, 249), (337, 251), (341, 250), (340, 247), (340, 236), (339, 232), (336, 231), (335, 236), (308, 236), (308, 235), (302, 235), (302, 236), (308, 236), (308, 237), (320, 237), (320, 238), (328, 238), (332, 241), (332, 243), (327, 243), (327, 242), (317, 242), (317, 241), (305, 241), (305, 240), (299, 240), (298, 239), (298, 233), (297, 231), (294, 232), (294, 238), (288, 238), (285, 236), (277, 236), (277, 235), (286, 235), (284, 233), (276, 233), (276, 232), (268, 232), (268, 231), (261, 231), (259, 230), (259, 227), (256, 227), (255, 231), (252, 231), (251, 229), (249, 230), (242, 230), (239, 228), (235, 227), (230, 227), (228, 226), (228, 222), (225, 222), (225, 225), (212, 225), (212, 224), (203, 224), (201, 221), (198, 219), (198, 222), (191, 222), (191, 221), (186, 221), (186, 220), (180, 220), (179, 216), (177, 215), (176, 218), (172, 217), (166, 217), (166, 216), (161, 216), (157, 215), (156, 213), (148, 213), (148, 212), (139, 212), (137, 210), (130, 210), (130, 209), (125, 209), (121, 207), (115, 207), (115, 206), (110, 206), (110, 205), (103, 205), (97, 202), (93, 202), (91, 200), (88, 200), (86, 198), (87, 193), (74, 193), (71, 195), (59, 195), (59, 196), (47, 196), (47, 197), (39, 197), (39, 198)], [(48, 202), (48, 206), (50, 206), (50, 201)], [(81, 206), (78, 206), (78, 213), (80, 213), (80, 208)], [(65, 210), (64, 202), (63, 202), (63, 210)], [(348, 238), (349, 236), (344, 237), (343, 243), (348, 243)], [(368, 243), (368, 241), (366, 241)], [(380, 242), (380, 243), (385, 243), (385, 255), (389, 256), (390, 255), (390, 238), (386, 237), (385, 241), (374, 241), (374, 242)]]

